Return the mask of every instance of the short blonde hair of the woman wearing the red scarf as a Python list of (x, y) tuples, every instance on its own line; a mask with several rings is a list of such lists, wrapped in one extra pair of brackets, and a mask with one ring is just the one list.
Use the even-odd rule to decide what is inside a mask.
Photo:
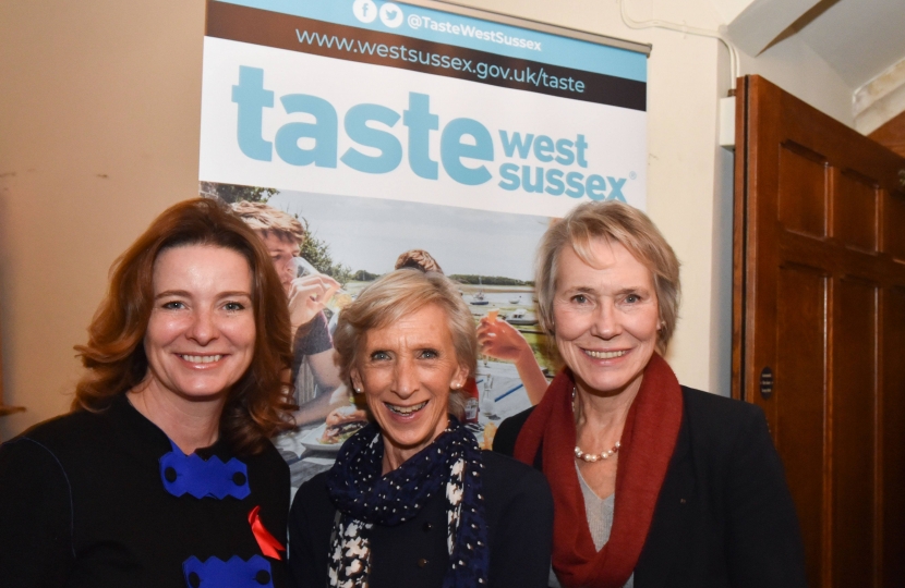
[(616, 200), (582, 204), (544, 233), (535, 268), (541, 328), (547, 334), (556, 334), (553, 298), (563, 249), (571, 247), (582, 261), (593, 266), (595, 260), (591, 254), (591, 242), (599, 238), (618, 243), (651, 271), (662, 321), (656, 348), (664, 353), (678, 321), (681, 293), (679, 261), (647, 215)]

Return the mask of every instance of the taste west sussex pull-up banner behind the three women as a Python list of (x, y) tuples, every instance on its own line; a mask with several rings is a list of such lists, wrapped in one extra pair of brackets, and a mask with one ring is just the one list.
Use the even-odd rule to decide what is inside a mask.
[[(461, 284), (475, 321), (511, 329), (548, 372), (534, 250), (580, 203), (644, 208), (648, 50), (438, 2), (209, 0), (202, 192), (303, 224), (302, 257), (318, 259), (300, 275), (341, 284), (327, 331), (341, 299), (415, 250)], [(295, 378), (301, 425), (276, 440), (293, 487), (339, 446), (304, 405), (348, 394), (311, 366)], [(485, 443), (531, 404), (497, 357), (482, 357), (476, 388)]]

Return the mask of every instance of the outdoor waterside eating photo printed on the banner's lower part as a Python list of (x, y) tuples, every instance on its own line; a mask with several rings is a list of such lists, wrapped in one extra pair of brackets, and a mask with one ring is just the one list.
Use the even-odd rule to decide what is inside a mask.
[[(333, 363), (331, 335), (342, 308), (362, 289), (400, 267), (441, 271), (459, 284), (479, 331), (521, 343), (544, 376), (555, 371), (538, 327), (534, 253), (555, 219), (488, 213), (466, 208), (335, 196), (202, 182), (204, 196), (220, 198), (255, 229), (307, 314), (293, 316), (295, 429), (275, 439), (292, 471), (292, 486), (327, 469), (367, 415)], [(305, 282), (325, 284), (313, 306)], [(300, 287), (301, 286), (301, 287)], [(294, 287), (294, 290), (292, 290)], [(316, 287), (316, 286), (315, 286)], [(483, 319), (483, 321), (482, 321)], [(494, 348), (490, 350), (494, 353)], [(490, 449), (496, 426), (532, 405), (510, 355), (482, 355), (466, 419)]]

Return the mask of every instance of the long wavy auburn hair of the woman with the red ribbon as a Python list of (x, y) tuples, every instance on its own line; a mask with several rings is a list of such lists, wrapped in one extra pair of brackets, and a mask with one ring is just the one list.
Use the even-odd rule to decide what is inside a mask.
[(240, 454), (258, 453), (269, 437), (290, 427), (287, 416), (295, 408), (281, 380), (292, 360), (289, 309), (264, 244), (218, 200), (197, 198), (168, 208), (113, 262), (107, 295), (88, 327), (88, 342), (75, 346), (87, 371), (75, 388), (73, 409), (102, 411), (113, 396), (145, 379), (154, 264), (160, 253), (186, 245), (234, 250), (251, 268), (254, 356), (227, 395), (220, 434)]

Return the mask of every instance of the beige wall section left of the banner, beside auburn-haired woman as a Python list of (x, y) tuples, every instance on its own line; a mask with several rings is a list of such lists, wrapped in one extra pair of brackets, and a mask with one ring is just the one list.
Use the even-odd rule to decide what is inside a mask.
[(197, 193), (201, 1), (0, 2), (0, 439), (60, 414), (110, 262)]

